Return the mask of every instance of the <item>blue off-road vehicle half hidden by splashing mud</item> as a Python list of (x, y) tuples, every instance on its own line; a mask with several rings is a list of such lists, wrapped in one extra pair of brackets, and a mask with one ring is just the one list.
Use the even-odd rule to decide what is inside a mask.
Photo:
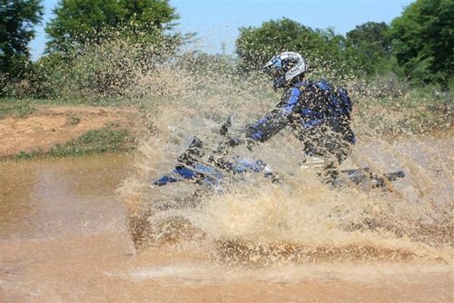
[[(220, 132), (222, 136), (228, 136), (230, 125), (230, 120), (222, 125)], [(193, 137), (189, 146), (177, 158), (173, 170), (153, 181), (151, 184), (153, 189), (161, 191), (174, 192), (187, 186), (191, 189), (183, 191), (183, 197), (153, 199), (145, 210), (130, 216), (129, 229), (136, 249), (163, 241), (203, 237), (201, 230), (196, 230), (184, 216), (175, 214), (175, 210), (201, 207), (201, 200), (213, 193), (222, 193), (226, 184), (234, 186), (235, 182), (247, 181), (242, 177), (248, 174), (260, 174), (271, 183), (285, 183), (285, 179), (273, 171), (265, 161), (240, 157), (226, 160), (222, 157), (227, 153), (225, 150), (226, 147), (222, 144), (207, 160), (204, 160), (203, 142)], [(404, 171), (377, 174), (367, 167), (334, 172), (331, 171), (328, 179), (321, 178), (321, 181), (334, 188), (366, 185), (372, 189), (386, 190), (390, 181), (405, 177)], [(168, 216), (169, 213), (171, 213), (170, 216)]]

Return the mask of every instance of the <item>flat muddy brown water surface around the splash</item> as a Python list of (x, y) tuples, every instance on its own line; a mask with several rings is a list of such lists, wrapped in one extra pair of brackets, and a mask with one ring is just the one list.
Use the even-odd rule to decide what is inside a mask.
[[(377, 151), (377, 144), (404, 154), (395, 162), (419, 176), (396, 184), (407, 200), (429, 191), (419, 180), (428, 172), (436, 192), (427, 199), (452, 202), (452, 168), (444, 164), (452, 163), (452, 136), (370, 142), (363, 153)], [(430, 246), (441, 258), (266, 266), (212, 258), (209, 239), (136, 253), (117, 192), (132, 163), (127, 155), (0, 163), (0, 302), (454, 300), (452, 254), (444, 242), (442, 249)]]

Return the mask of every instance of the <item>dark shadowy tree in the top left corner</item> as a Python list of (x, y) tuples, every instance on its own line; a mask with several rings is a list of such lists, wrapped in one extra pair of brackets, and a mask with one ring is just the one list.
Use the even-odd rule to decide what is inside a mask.
[(40, 0), (0, 0), (0, 82), (24, 75), (30, 58), (27, 45), (42, 16)]

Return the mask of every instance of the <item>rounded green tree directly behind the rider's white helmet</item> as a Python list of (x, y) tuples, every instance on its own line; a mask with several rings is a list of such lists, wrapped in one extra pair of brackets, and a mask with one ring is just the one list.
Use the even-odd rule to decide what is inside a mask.
[(343, 43), (343, 37), (332, 29), (313, 30), (283, 18), (260, 27), (240, 28), (236, 52), (246, 70), (259, 68), (275, 54), (293, 51), (305, 56), (310, 67), (330, 68), (332, 72), (341, 68)]

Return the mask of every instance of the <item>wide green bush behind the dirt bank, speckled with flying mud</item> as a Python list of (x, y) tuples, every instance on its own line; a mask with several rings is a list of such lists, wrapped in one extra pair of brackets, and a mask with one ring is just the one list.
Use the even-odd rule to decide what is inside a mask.
[(118, 35), (82, 53), (46, 54), (4, 92), (17, 98), (131, 97), (142, 75), (168, 61), (177, 45), (168, 37), (158, 43)]

